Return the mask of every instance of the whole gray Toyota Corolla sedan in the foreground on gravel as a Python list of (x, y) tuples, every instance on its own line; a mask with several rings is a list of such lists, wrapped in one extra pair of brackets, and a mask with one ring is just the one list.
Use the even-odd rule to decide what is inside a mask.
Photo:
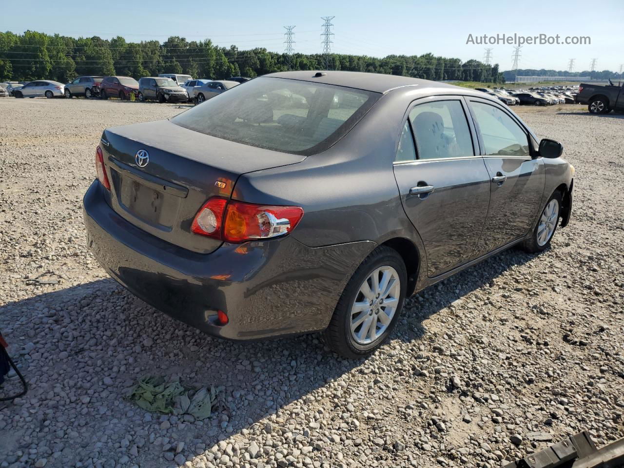
[(88, 245), (159, 310), (222, 338), (323, 331), (372, 353), (406, 297), (572, 211), (574, 168), (495, 97), (401, 76), (282, 72), (107, 129)]

